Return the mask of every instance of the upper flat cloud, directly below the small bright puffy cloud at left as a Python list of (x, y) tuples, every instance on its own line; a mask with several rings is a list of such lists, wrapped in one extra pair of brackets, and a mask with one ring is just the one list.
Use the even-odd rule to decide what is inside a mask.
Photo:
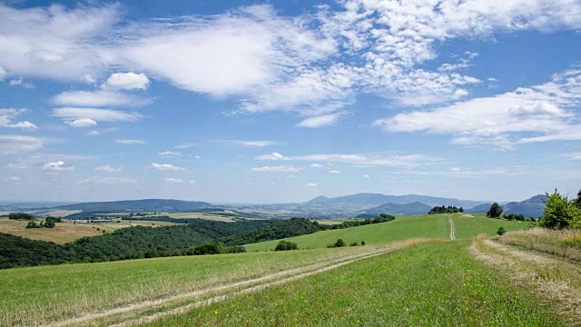
[(56, 94), (51, 102), (56, 105), (81, 107), (140, 106), (149, 100), (116, 91), (67, 91)]

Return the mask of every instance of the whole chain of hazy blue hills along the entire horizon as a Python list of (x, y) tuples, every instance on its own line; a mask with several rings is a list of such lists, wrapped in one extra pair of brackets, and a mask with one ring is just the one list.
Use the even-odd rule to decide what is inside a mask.
[[(502, 207), (504, 213), (521, 213), (526, 217), (537, 218), (543, 213), (546, 195), (536, 195), (522, 202), (506, 203)], [(70, 217), (85, 217), (93, 213), (200, 213), (200, 212), (228, 212), (240, 214), (245, 217), (262, 218), (368, 218), (375, 217), (379, 213), (399, 214), (425, 214), (434, 206), (454, 205), (463, 207), (467, 213), (486, 213), (490, 209), (492, 201), (458, 200), (441, 198), (428, 195), (386, 195), (381, 193), (358, 193), (337, 197), (318, 196), (306, 203), (278, 203), (278, 204), (223, 204), (200, 201), (145, 199), (126, 200), (113, 202), (93, 202), (61, 204), (54, 206), (42, 206), (38, 209), (28, 209), (34, 204), (19, 205), (6, 203), (6, 212), (25, 211), (34, 214), (58, 214), (63, 212)], [(67, 213), (76, 212), (76, 213)]]

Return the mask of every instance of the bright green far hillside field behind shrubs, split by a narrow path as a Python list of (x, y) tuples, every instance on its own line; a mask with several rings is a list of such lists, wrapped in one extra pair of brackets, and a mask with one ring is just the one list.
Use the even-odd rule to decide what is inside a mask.
[[(507, 231), (517, 231), (527, 227), (526, 223), (507, 222), (498, 219), (475, 215), (473, 218), (460, 218), (459, 214), (450, 214), (456, 225), (456, 238), (471, 238), (478, 233), (493, 235), (498, 227), (504, 226)], [(456, 223), (458, 222), (458, 223)], [(365, 241), (367, 244), (382, 244), (407, 240), (413, 237), (449, 239), (450, 225), (446, 214), (424, 214), (399, 216), (388, 223), (374, 223), (340, 230), (330, 230), (309, 235), (291, 237), (299, 248), (325, 248), (337, 239), (346, 243)], [(246, 251), (270, 251), (279, 241), (269, 241), (244, 245)]]

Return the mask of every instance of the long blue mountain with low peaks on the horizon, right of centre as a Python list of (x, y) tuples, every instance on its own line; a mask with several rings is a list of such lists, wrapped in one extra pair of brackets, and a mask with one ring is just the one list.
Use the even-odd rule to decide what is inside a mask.
[(491, 202), (458, 200), (417, 194), (386, 195), (381, 193), (358, 193), (352, 195), (337, 196), (332, 198), (326, 196), (318, 196), (306, 202), (306, 204), (337, 204), (337, 203), (349, 203), (359, 205), (379, 205), (385, 203), (393, 204), (424, 203), (431, 205), (432, 207), (436, 205), (446, 205), (446, 206), (455, 205), (457, 207), (472, 208), (482, 203), (491, 203)]

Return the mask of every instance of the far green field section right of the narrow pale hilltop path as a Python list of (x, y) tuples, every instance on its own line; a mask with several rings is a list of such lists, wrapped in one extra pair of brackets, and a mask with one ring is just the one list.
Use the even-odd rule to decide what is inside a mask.
[(504, 227), (507, 232), (520, 231), (527, 228), (526, 222), (511, 222), (502, 219), (487, 218), (486, 214), (470, 213), (474, 217), (462, 217), (462, 213), (450, 213), (455, 226), (457, 239), (474, 238), (480, 233), (488, 236), (496, 235), (499, 227)]

